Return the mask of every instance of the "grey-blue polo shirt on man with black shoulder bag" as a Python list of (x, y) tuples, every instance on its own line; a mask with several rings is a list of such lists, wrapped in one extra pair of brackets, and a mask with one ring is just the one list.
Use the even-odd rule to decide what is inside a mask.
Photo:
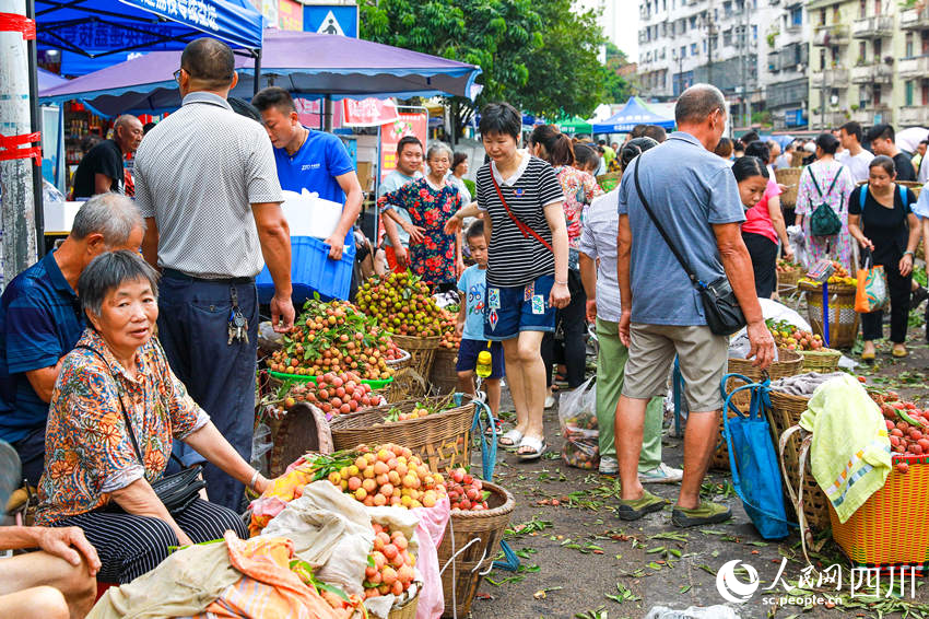
[(745, 221), (729, 162), (675, 131), (640, 154), (623, 175), (619, 213), (632, 230), (632, 322), (645, 325), (706, 325), (699, 295), (668, 248), (635, 190), (635, 166), (648, 205), (681, 255), (702, 281), (726, 272), (713, 224)]

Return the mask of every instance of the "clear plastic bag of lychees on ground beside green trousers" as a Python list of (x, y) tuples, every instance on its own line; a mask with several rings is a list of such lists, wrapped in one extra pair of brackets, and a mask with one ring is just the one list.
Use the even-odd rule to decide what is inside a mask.
[(600, 466), (600, 432), (597, 430), (597, 385), (588, 378), (562, 395), (558, 424), (565, 439), (562, 459), (569, 466), (592, 470)]

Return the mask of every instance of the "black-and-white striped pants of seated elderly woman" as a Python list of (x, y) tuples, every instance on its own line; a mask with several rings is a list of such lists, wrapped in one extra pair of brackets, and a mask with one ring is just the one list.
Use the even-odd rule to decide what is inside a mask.
[[(174, 519), (195, 544), (222, 539), (228, 529), (242, 539), (248, 538), (238, 514), (202, 499), (195, 500)], [(52, 526), (83, 529), (99, 554), (102, 565), (97, 580), (103, 583), (128, 583), (152, 571), (167, 558), (168, 547), (178, 544), (166, 522), (149, 516), (89, 512), (62, 518)]]

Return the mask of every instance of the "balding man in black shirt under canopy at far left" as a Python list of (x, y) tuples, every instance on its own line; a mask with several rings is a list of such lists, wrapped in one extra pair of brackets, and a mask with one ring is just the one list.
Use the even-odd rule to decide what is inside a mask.
[(74, 173), (74, 198), (90, 198), (97, 194), (126, 192), (122, 161), (134, 153), (142, 141), (142, 122), (125, 114), (116, 119), (111, 140), (103, 140), (84, 155)]

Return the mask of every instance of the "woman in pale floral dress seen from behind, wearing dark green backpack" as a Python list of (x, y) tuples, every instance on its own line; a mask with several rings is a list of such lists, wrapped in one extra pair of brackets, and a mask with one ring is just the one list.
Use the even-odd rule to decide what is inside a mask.
[[(816, 161), (800, 174), (800, 186), (797, 189), (797, 224), (803, 230), (807, 240), (810, 266), (823, 259), (838, 260), (851, 272), (852, 238), (848, 232), (848, 198), (855, 189), (855, 179), (848, 167), (835, 161), (837, 149), (838, 138), (832, 133), (822, 133), (816, 138)], [(822, 202), (827, 203), (842, 220), (842, 230), (835, 236), (813, 236), (810, 233), (810, 219)]]

